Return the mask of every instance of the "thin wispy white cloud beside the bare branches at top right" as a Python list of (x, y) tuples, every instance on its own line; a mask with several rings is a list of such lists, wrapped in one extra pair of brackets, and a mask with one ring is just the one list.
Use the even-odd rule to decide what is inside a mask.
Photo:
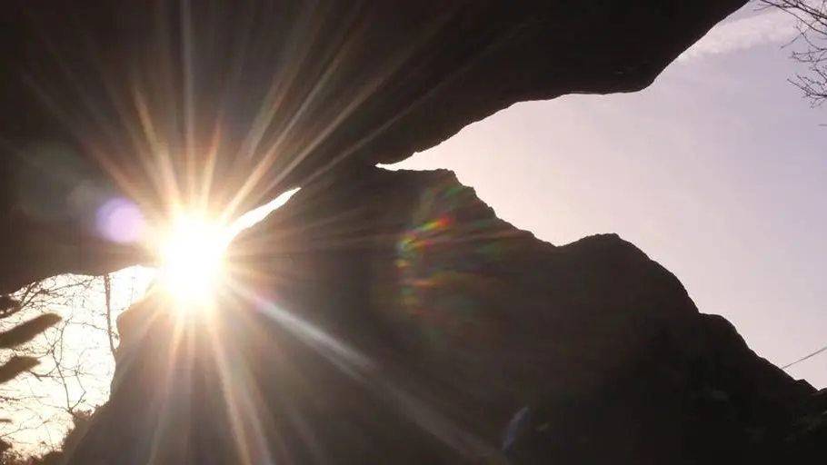
[(757, 45), (782, 44), (798, 34), (794, 16), (773, 10), (748, 18), (722, 23), (678, 57), (679, 61), (707, 55), (728, 54)]

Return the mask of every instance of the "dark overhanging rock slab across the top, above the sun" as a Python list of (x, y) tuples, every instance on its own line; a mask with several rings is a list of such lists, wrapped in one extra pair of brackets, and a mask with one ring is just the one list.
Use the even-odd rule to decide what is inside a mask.
[(5, 0), (0, 292), (147, 260), (92, 223), (115, 192), (163, 218), (166, 156), (181, 186), (214, 162), (216, 209), (251, 183), (241, 214), (517, 102), (642, 89), (745, 3)]

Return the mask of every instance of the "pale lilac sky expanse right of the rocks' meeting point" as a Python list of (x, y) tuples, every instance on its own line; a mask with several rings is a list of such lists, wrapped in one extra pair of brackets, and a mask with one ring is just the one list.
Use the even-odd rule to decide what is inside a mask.
[[(619, 233), (785, 364), (827, 345), (827, 107), (786, 81), (792, 33), (748, 7), (643, 92), (517, 104), (400, 166), (555, 244)], [(827, 353), (790, 372), (827, 387)]]

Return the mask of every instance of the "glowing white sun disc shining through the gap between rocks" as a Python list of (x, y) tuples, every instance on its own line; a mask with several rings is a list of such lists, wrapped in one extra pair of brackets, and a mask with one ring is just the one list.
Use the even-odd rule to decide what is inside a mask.
[(200, 216), (182, 216), (161, 242), (160, 281), (179, 305), (192, 308), (213, 296), (224, 274), (227, 228)]

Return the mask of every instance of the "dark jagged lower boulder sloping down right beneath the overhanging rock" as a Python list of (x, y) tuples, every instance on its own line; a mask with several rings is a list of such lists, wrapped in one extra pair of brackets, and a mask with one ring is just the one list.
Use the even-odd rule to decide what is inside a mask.
[(216, 312), (122, 316), (112, 399), (70, 463), (496, 463), (524, 406), (515, 463), (825, 457), (823, 395), (670, 272), (616, 235), (539, 241), (452, 173), (309, 185), (230, 259)]

